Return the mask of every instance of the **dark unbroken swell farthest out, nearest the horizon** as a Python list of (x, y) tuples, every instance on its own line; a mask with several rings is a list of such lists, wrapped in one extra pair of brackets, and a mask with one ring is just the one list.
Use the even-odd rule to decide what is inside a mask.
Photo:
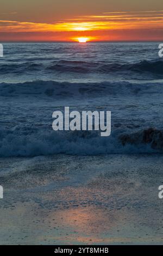
[[(62, 73), (102, 73), (109, 74), (111, 72), (136, 72), (140, 74), (163, 75), (163, 61), (156, 60), (141, 60), (136, 63), (122, 63), (122, 62), (90, 62), (90, 61), (74, 61), (74, 60), (55, 60), (51, 62), (52, 57), (45, 57), (46, 63), (42, 62), (42, 57), (33, 57), (28, 62), (16, 62), (0, 65), (0, 74), (26, 74), (26, 72), (42, 71), (43, 74), (47, 72), (62, 72)], [(31, 61), (30, 61), (31, 60)], [(39, 63), (40, 60), (40, 63)]]

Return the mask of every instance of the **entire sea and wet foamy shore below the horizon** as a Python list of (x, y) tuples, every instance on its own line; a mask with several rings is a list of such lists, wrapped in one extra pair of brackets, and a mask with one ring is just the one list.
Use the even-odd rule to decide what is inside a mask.
[[(161, 245), (159, 42), (4, 43), (0, 243)], [(111, 111), (111, 135), (53, 131), (54, 111)]]

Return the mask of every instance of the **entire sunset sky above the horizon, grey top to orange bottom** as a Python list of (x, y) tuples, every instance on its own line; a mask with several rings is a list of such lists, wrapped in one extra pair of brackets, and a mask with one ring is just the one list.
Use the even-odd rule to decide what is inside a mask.
[(0, 0), (3, 41), (162, 41), (162, 0)]

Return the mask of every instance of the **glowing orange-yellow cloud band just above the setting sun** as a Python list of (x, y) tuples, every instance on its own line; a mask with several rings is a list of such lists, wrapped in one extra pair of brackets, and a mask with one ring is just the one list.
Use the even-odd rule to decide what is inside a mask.
[[(103, 13), (102, 15), (79, 16), (71, 20), (58, 21), (54, 23), (35, 23), (35, 22), (20, 22), (11, 20), (0, 20), (1, 33), (62, 33), (61, 36), (73, 38), (79, 33), (88, 33), (89, 36), (93, 32), (93, 36), (98, 38), (98, 35), (103, 32), (103, 38), (107, 38), (109, 32), (129, 31), (133, 35), (134, 31), (153, 30), (151, 39), (154, 38), (154, 31), (163, 31), (163, 11), (126, 11), (126, 12), (111, 12)], [(131, 33), (131, 31), (133, 31)], [(137, 33), (137, 32), (136, 32)], [(122, 33), (121, 33), (122, 34)], [(138, 34), (138, 33), (137, 33)], [(141, 33), (140, 33), (141, 34)], [(142, 36), (142, 34), (141, 34)], [(150, 36), (150, 33), (149, 33)], [(158, 38), (158, 33), (156, 33)], [(124, 37), (124, 36), (123, 36)], [(117, 38), (118, 35), (117, 35)], [(160, 37), (159, 37), (160, 38)]]

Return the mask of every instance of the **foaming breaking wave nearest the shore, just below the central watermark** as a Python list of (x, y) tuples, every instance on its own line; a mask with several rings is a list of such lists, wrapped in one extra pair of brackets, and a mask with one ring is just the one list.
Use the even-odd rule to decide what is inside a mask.
[[(122, 131), (121, 131), (122, 132)], [(95, 131), (0, 130), (0, 156), (39, 156), (53, 154), (99, 155), (162, 153), (163, 131), (149, 128), (131, 134), (114, 131), (100, 137)]]

